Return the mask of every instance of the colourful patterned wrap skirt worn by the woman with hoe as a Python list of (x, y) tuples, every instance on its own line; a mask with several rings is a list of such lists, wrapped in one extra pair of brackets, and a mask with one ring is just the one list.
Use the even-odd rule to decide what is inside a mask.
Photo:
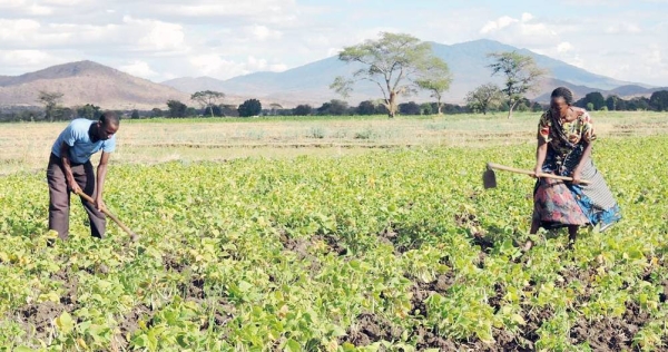
[[(570, 176), (571, 168), (561, 168), (560, 172), (550, 163), (551, 159), (548, 155), (543, 173)], [(582, 169), (582, 179), (590, 184), (573, 185), (552, 178), (541, 178), (536, 183), (533, 218), (540, 221), (541, 227), (550, 229), (591, 225), (599, 226), (602, 232), (621, 218), (615, 197), (591, 160)]]

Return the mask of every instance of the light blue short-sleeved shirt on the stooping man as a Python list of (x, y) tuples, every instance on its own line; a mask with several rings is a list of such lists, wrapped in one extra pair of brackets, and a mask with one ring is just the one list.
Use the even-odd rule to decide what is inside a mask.
[(70, 147), (70, 160), (76, 164), (84, 164), (90, 160), (90, 156), (98, 153), (100, 149), (105, 153), (114, 151), (116, 149), (116, 135), (107, 140), (98, 140), (96, 143), (90, 140), (88, 129), (90, 129), (90, 125), (95, 123), (97, 121), (86, 118), (72, 120), (60, 136), (58, 136), (56, 143), (53, 143), (51, 153), (57, 157), (61, 157), (60, 146), (62, 146), (62, 143), (65, 141)]

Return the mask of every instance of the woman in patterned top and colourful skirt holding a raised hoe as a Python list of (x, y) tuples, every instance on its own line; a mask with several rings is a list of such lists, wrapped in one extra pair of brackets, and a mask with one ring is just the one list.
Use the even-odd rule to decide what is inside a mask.
[[(552, 91), (550, 109), (538, 124), (534, 173), (570, 176), (572, 182), (539, 178), (533, 192), (531, 234), (568, 227), (571, 246), (580, 226), (605, 231), (621, 218), (619, 206), (591, 162), (596, 134), (589, 114), (572, 106), (573, 94), (564, 87)], [(581, 184), (586, 179), (588, 184)], [(533, 246), (531, 239), (524, 251)]]

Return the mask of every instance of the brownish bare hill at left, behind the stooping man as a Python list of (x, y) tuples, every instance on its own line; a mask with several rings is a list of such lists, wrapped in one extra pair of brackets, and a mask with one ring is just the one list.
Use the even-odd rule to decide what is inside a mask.
[(0, 106), (37, 106), (40, 90), (62, 92), (65, 106), (95, 104), (106, 109), (150, 109), (165, 107), (168, 99), (189, 100), (188, 94), (171, 87), (92, 61), (78, 61), (1, 76)]

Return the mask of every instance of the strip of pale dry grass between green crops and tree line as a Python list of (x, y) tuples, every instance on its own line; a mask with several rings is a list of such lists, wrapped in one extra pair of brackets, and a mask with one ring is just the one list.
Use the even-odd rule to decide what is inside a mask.
[[(668, 133), (659, 113), (593, 113), (601, 137)], [(538, 114), (343, 117), (185, 118), (124, 120), (114, 164), (237, 157), (342, 156), (372, 148), (531, 144)], [(0, 125), (0, 175), (46, 167), (66, 123)]]

